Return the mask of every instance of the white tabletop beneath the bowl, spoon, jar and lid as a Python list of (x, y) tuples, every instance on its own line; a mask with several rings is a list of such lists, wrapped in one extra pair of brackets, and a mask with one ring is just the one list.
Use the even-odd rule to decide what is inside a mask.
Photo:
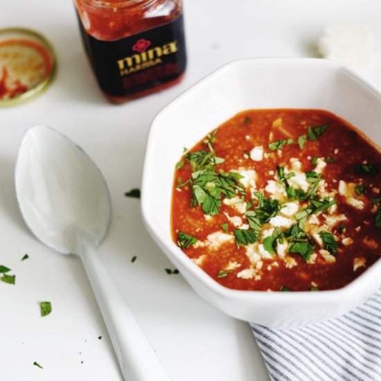
[[(107, 179), (113, 216), (98, 251), (172, 380), (268, 380), (249, 325), (208, 305), (181, 274), (166, 274), (172, 265), (145, 231), (139, 200), (124, 193), (140, 186), (150, 121), (181, 91), (241, 57), (313, 57), (329, 24), (369, 26), (381, 52), (380, 15), (379, 0), (185, 0), (186, 78), (115, 106), (98, 90), (71, 1), (1, 1), (0, 26), (46, 35), (59, 71), (39, 98), (0, 109), (0, 265), (16, 274), (16, 285), (0, 283), (0, 379), (122, 380), (79, 258), (44, 247), (19, 213), (13, 174), (19, 143), (30, 125), (45, 123), (81, 145)], [(381, 85), (380, 57), (364, 76)], [(48, 317), (40, 316), (39, 301), (52, 302)]]

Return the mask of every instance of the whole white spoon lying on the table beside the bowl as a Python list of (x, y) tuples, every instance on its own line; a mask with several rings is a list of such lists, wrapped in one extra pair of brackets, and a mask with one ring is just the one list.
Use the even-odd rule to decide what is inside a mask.
[(109, 226), (111, 202), (94, 162), (66, 136), (36, 125), (21, 142), (15, 181), (21, 214), (35, 236), (82, 259), (125, 380), (170, 380), (96, 256), (95, 247)]

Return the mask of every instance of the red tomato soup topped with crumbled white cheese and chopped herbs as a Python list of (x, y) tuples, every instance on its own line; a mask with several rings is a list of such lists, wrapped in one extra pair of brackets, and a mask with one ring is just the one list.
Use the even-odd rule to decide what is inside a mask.
[(226, 287), (343, 287), (381, 255), (380, 168), (330, 112), (241, 112), (179, 159), (172, 238)]

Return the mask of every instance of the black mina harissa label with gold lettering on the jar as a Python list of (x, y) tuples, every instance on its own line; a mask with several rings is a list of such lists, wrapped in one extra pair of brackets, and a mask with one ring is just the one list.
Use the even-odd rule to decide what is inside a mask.
[(170, 80), (186, 68), (184, 17), (116, 41), (102, 41), (80, 30), (91, 66), (105, 93), (130, 96)]

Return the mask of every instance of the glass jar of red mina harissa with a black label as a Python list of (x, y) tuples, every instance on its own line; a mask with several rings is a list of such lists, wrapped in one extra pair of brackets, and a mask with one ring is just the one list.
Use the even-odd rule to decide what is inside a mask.
[(74, 0), (82, 41), (113, 103), (178, 83), (186, 69), (181, 0)]

